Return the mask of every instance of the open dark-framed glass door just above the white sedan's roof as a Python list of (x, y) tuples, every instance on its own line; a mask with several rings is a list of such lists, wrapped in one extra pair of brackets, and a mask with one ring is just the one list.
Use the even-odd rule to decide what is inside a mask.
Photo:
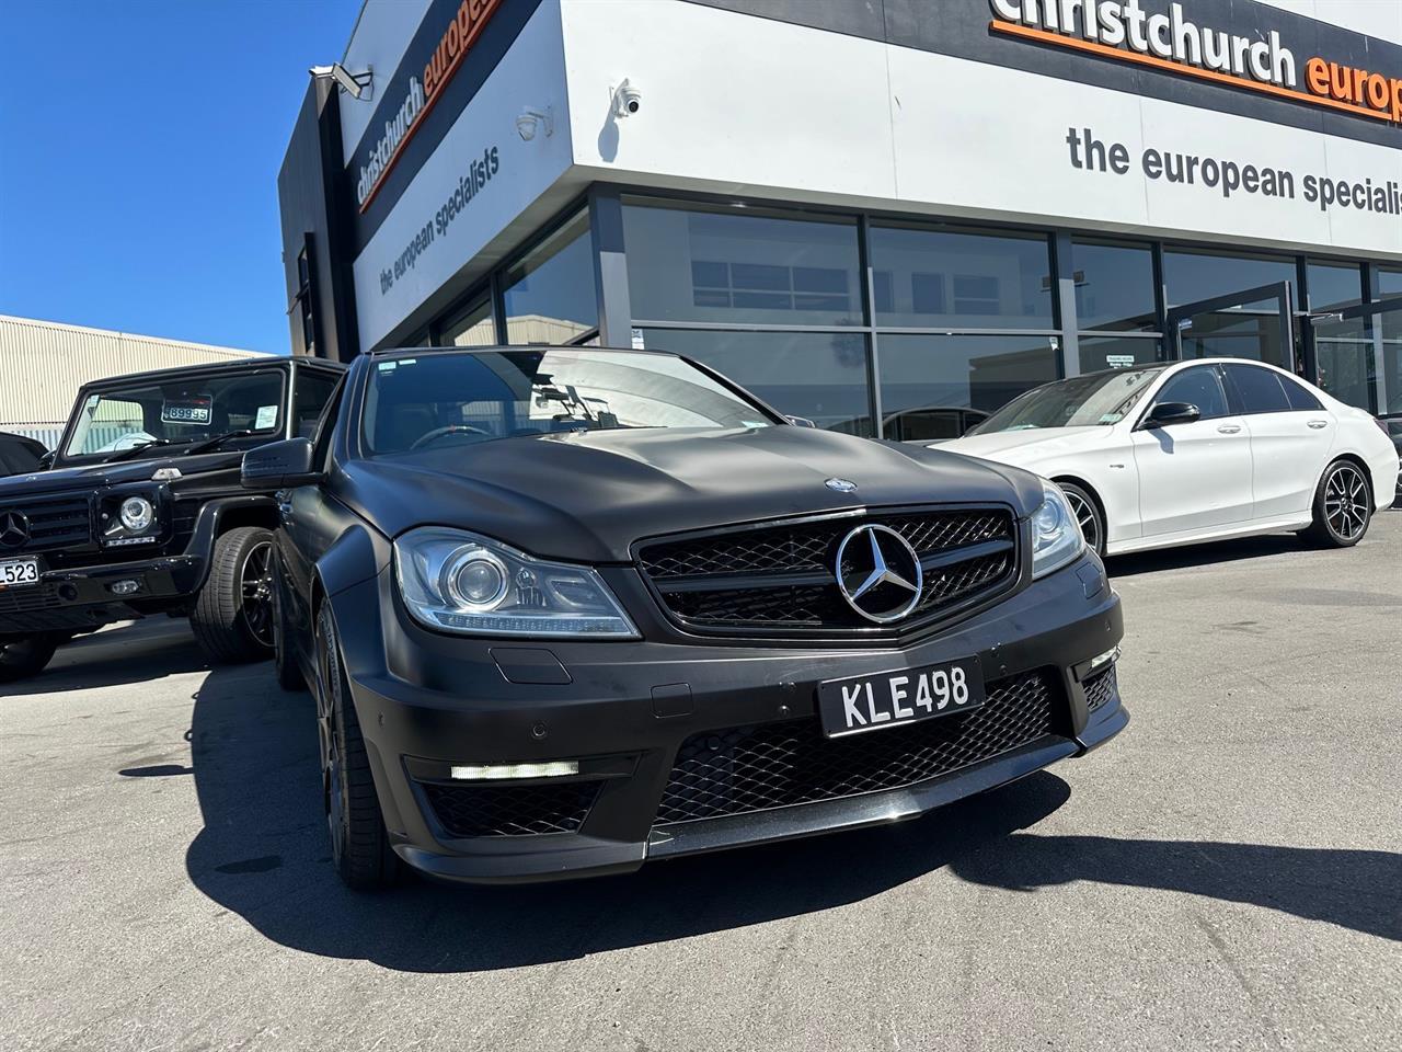
[(1179, 358), (1249, 358), (1294, 372), (1293, 318), (1290, 282), (1276, 282), (1173, 307), (1168, 332)]

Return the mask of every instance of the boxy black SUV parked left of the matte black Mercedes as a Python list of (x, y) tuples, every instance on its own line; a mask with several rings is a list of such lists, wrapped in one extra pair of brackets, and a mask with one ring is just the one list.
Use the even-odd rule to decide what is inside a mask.
[(212, 659), (266, 655), (278, 504), (240, 463), (311, 433), (343, 372), (254, 358), (84, 386), (52, 464), (0, 478), (0, 682), (153, 613), (189, 614)]

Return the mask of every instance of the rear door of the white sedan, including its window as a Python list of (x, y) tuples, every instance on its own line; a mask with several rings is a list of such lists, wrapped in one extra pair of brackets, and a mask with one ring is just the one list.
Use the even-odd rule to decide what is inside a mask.
[(1339, 422), (1294, 377), (1242, 362), (1223, 366), (1227, 396), (1251, 435), (1251, 518), (1309, 518)]

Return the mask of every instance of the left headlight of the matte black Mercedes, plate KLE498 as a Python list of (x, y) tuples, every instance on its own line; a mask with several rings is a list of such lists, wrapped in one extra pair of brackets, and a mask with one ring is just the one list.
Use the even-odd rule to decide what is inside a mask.
[(426, 526), (394, 541), (400, 593), (429, 628), (471, 635), (637, 638), (589, 567), (547, 562), (465, 530)]

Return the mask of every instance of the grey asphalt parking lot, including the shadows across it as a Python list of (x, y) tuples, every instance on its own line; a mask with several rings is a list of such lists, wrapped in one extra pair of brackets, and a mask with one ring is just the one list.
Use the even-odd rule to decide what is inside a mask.
[(184, 623), (0, 699), (7, 1049), (1396, 1049), (1402, 512), (1112, 560), (1108, 748), (920, 822), (338, 884), (306, 694)]

